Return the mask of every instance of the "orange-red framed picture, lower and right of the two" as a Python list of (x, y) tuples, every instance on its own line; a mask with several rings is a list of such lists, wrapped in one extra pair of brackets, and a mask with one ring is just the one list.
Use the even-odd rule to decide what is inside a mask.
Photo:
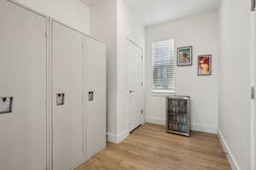
[(198, 76), (212, 75), (212, 55), (198, 56)]

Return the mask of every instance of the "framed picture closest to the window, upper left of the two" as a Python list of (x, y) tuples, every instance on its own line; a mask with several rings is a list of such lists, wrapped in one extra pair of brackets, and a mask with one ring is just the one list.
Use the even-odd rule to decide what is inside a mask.
[(192, 65), (192, 46), (177, 48), (177, 66)]

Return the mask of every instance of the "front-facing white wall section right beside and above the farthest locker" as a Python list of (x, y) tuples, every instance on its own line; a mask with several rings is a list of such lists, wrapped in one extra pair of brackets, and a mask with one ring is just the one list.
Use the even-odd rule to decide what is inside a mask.
[(102, 39), (108, 47), (107, 91), (108, 134), (117, 134), (117, 1), (106, 0), (91, 8), (91, 35)]

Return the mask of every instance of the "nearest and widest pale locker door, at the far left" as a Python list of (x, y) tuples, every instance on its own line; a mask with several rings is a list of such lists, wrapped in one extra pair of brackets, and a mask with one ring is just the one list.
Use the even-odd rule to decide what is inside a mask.
[(1, 0), (0, 20), (0, 97), (13, 97), (13, 111), (0, 114), (0, 169), (43, 170), (47, 18)]

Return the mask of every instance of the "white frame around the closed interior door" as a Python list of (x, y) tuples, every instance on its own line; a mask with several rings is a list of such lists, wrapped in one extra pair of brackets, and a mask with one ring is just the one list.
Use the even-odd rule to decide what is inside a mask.
[[(141, 108), (141, 110), (143, 111), (143, 113), (142, 114), (140, 114), (140, 125), (143, 125), (143, 115), (144, 115), (144, 93), (143, 93), (143, 89), (144, 89), (144, 71), (143, 71), (143, 68), (144, 68), (144, 65), (143, 65), (143, 48), (137, 43), (137, 42), (134, 42), (134, 41), (132, 41), (131, 40), (131, 38), (129, 38), (129, 37), (126, 37), (126, 39), (125, 39), (125, 49), (126, 49), (126, 52), (125, 52), (125, 62), (126, 63), (128, 63), (128, 49), (129, 49), (129, 45), (133, 45), (133, 46), (136, 46), (137, 48), (139, 48), (140, 49), (140, 51), (141, 51), (141, 54), (142, 54), (142, 56), (141, 56), (141, 63), (140, 63), (140, 65), (141, 65), (141, 77), (142, 77), (142, 88), (141, 88), (141, 97), (142, 97), (142, 99), (141, 99), (141, 105), (142, 105), (142, 108)], [(129, 113), (129, 99), (130, 99), (130, 93), (129, 93), (129, 90), (130, 90), (130, 88), (127, 86), (127, 84), (128, 84), (128, 72), (129, 72), (129, 66), (126, 66), (126, 68), (125, 68), (125, 78), (126, 78), (126, 97), (125, 97), (125, 101), (126, 101), (126, 107), (125, 107), (125, 113), (126, 113), (126, 115), (127, 115), (127, 121), (126, 121), (126, 127), (127, 127), (127, 132), (128, 133), (131, 133), (130, 131), (131, 131), (131, 129), (130, 129), (130, 119), (129, 119), (129, 116), (130, 116), (130, 113)]]

